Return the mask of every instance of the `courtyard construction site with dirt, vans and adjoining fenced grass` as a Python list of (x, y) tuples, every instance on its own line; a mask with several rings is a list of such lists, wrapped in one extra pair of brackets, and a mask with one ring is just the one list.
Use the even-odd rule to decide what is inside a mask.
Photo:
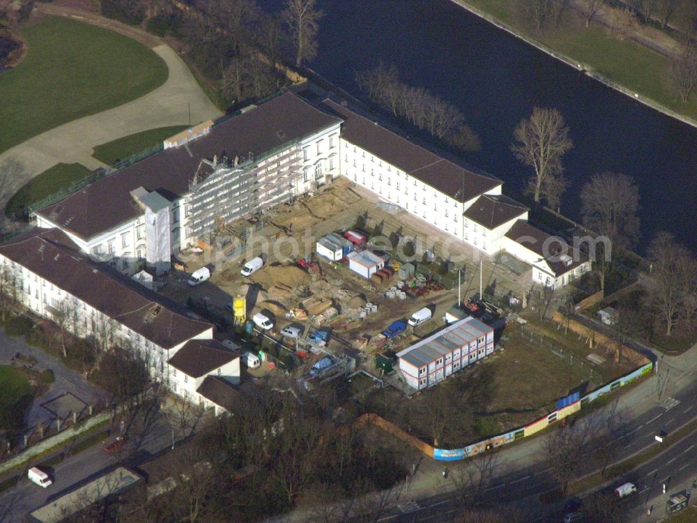
[[(570, 390), (591, 390), (637, 365), (626, 354), (620, 357), (597, 346), (594, 351), (583, 335), (566, 332), (559, 321), (541, 319), (534, 305), (521, 311), (523, 296), (530, 291), (524, 264), (470, 252), (464, 243), (449, 241), (345, 179), (293, 203), (278, 204), (261, 218), (237, 220), (215, 230), (210, 243), (200, 242), (182, 253), (180, 271), (159, 290), (213, 319), (224, 327), (220, 331), (227, 330), (224, 335), (259, 351), (261, 367), (248, 370), (254, 379), (282, 368), (318, 383), (360, 370), (372, 379), (355, 383), (375, 388), (364, 407), (391, 404), (404, 393), (415, 393), (400, 377), (395, 354), (441, 330), (446, 315), (472, 314), (496, 329), (496, 352), (445, 384), (418, 393), (410, 405), (416, 413), (427, 408), (440, 387), (479, 384), (475, 388), (487, 393), (470, 398), (470, 404), (478, 405), (480, 414), (470, 413), (467, 427), (459, 429), (461, 436), (479, 437), (525, 423)], [(332, 242), (353, 242), (346, 250), (364, 252), (368, 246), (381, 253), (384, 266), (367, 278), (352, 270), (353, 252), (348, 262), (318, 255), (318, 239), (325, 235), (328, 241), (321, 252)], [(403, 250), (374, 248), (381, 238), (390, 237), (399, 245), (413, 241), (420, 250), (408, 260)], [(343, 256), (342, 247), (337, 248), (337, 257)], [(247, 277), (240, 274), (245, 262), (258, 256), (263, 266)], [(213, 268), (210, 280), (187, 285), (187, 274), (202, 266)], [(478, 298), (480, 290), (487, 299)], [(237, 310), (238, 301), (243, 312)], [(406, 320), (423, 308), (431, 311), (428, 321), (407, 325)], [(252, 322), (258, 313), (268, 317), (273, 328)], [(292, 328), (298, 329), (297, 335)], [(530, 398), (535, 398), (534, 404)], [(385, 416), (401, 425), (399, 418), (404, 416), (393, 414)], [(420, 437), (429, 439), (428, 424), (417, 430), (420, 425), (408, 422)]]

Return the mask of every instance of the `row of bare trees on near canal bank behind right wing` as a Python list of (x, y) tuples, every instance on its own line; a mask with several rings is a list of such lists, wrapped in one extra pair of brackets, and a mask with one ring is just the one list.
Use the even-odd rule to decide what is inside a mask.
[(423, 87), (413, 87), (399, 80), (394, 64), (383, 62), (358, 73), (356, 82), (374, 103), (413, 126), (429, 132), (459, 151), (477, 151), (477, 135), (465, 125), (462, 113)]

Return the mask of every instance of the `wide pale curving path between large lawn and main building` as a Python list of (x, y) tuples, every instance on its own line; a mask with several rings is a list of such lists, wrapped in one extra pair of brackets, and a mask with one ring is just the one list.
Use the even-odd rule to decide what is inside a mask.
[(15, 175), (14, 188), (59, 162), (77, 162), (89, 169), (104, 167), (92, 158), (94, 146), (135, 132), (187, 125), (190, 121), (195, 124), (222, 114), (169, 45), (158, 45), (153, 51), (169, 68), (169, 77), (162, 86), (114, 109), (43, 132), (0, 154), (0, 168), (11, 169)]

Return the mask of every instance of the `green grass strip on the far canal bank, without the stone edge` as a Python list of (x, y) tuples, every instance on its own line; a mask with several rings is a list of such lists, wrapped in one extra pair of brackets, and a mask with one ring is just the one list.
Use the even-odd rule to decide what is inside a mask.
[(697, 96), (682, 103), (671, 80), (670, 61), (629, 40), (619, 40), (592, 23), (585, 27), (578, 19), (565, 26), (533, 31), (516, 15), (511, 0), (459, 0), (505, 22), (516, 31), (565, 54), (585, 68), (625, 86), (644, 98), (697, 119)]

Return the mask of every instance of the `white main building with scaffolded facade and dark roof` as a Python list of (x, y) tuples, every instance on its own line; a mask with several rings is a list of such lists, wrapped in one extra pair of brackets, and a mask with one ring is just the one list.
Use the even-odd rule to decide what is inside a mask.
[[(171, 234), (165, 239), (171, 244), (170, 254), (176, 253), (197, 239), (192, 234), (190, 191), (197, 176), (221, 169), (234, 178), (240, 174), (236, 165), (252, 169), (253, 187), (233, 191), (238, 199), (250, 191), (254, 194), (250, 205), (239, 206), (240, 217), (247, 211), (251, 215), (267, 197), (273, 198), (271, 204), (287, 200), (338, 176), (340, 123), (295, 94), (284, 93), (217, 125), (200, 124), (165, 140), (163, 151), (38, 209), (37, 225), (58, 227), (83, 252), (125, 273), (136, 273), (146, 259), (154, 259), (155, 253), (148, 250), (161, 248), (167, 236), (148, 227), (148, 204), (157, 200), (160, 209), (162, 201), (167, 202), (167, 220), (160, 220), (160, 225), (169, 222)], [(287, 181), (279, 182), (269, 195), (272, 188), (266, 177), (272, 170), (283, 172)], [(231, 217), (235, 196), (211, 197), (218, 198), (217, 204), (229, 203)]]

